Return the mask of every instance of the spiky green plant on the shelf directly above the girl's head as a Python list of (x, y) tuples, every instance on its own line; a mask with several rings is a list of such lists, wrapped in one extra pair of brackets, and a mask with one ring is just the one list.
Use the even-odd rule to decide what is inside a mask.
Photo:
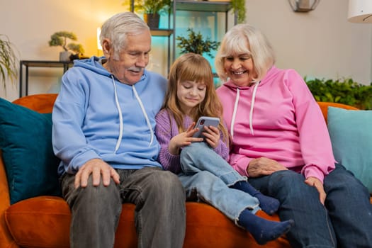
[(212, 41), (209, 37), (203, 38), (200, 32), (196, 33), (192, 28), (188, 28), (187, 32), (187, 38), (183, 36), (176, 37), (176, 40), (179, 40), (177, 47), (181, 48), (181, 54), (194, 52), (199, 55), (205, 53), (210, 57), (214, 57), (212, 51), (217, 50), (220, 42)]

